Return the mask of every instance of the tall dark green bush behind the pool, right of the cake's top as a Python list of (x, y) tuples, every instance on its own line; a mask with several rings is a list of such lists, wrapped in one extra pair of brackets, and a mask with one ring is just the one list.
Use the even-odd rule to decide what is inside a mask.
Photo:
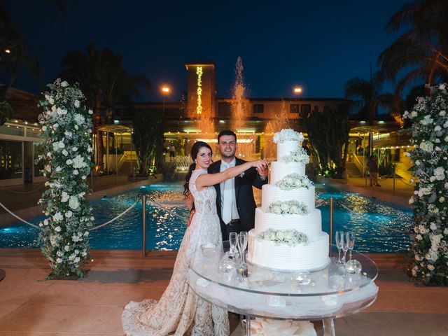
[(324, 106), (323, 111), (319, 111), (318, 106), (315, 106), (313, 111), (301, 116), (299, 125), (308, 134), (318, 156), (321, 173), (340, 179), (345, 170), (349, 144), (348, 109), (332, 110)]

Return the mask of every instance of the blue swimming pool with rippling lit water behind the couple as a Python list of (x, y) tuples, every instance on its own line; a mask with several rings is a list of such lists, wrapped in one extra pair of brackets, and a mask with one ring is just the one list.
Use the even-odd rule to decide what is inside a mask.
[[(186, 230), (186, 221), (181, 218), (188, 217), (182, 190), (180, 183), (158, 183), (92, 201), (95, 223), (99, 225), (109, 221), (130, 207), (137, 197), (147, 194), (162, 207), (151, 204), (146, 208), (146, 248), (148, 250), (176, 250)], [(406, 251), (410, 244), (409, 235), (386, 230), (386, 227), (404, 232), (412, 230), (411, 209), (396, 207), (322, 184), (316, 185), (316, 193), (324, 200), (334, 197), (333, 230), (356, 232), (356, 251), (361, 253)], [(344, 207), (367, 218), (367, 221)], [(329, 205), (325, 204), (319, 209), (322, 211), (322, 229), (328, 232)], [(33, 218), (30, 222), (38, 223), (42, 218), (43, 216)], [(90, 232), (91, 248), (141, 249), (142, 218), (141, 202), (139, 202), (134, 209), (118, 218), (117, 221)], [(0, 248), (37, 248), (39, 247), (37, 237), (38, 229), (23, 223), (1, 227)]]

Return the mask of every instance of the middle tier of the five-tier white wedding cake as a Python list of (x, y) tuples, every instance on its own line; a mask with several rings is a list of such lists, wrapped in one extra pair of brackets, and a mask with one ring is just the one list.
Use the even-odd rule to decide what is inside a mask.
[(293, 190), (282, 190), (272, 184), (265, 184), (261, 189), (261, 209), (266, 212), (270, 204), (278, 201), (299, 201), (304, 203), (308, 211), (316, 208), (314, 186)]

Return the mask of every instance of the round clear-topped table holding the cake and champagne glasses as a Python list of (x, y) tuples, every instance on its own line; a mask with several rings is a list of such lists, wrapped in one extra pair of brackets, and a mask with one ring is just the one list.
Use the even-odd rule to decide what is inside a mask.
[(324, 335), (335, 335), (333, 318), (362, 311), (377, 298), (377, 265), (361, 253), (353, 251), (352, 260), (358, 262), (338, 262), (337, 248), (330, 245), (325, 268), (286, 272), (249, 262), (241, 268), (239, 258), (229, 262), (224, 243), (224, 248), (202, 246), (195, 251), (188, 281), (202, 299), (247, 316), (248, 335), (251, 317), (323, 320)]

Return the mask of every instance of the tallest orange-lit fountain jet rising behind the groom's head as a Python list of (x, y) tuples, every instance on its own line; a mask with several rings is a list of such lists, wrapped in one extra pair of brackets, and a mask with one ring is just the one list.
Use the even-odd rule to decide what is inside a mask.
[(232, 119), (231, 130), (237, 133), (237, 156), (245, 160), (251, 160), (255, 155), (256, 135), (255, 130), (249, 130), (247, 120), (251, 116), (251, 102), (246, 98), (246, 86), (243, 77), (243, 62), (238, 57), (235, 66), (235, 85), (232, 94)]

